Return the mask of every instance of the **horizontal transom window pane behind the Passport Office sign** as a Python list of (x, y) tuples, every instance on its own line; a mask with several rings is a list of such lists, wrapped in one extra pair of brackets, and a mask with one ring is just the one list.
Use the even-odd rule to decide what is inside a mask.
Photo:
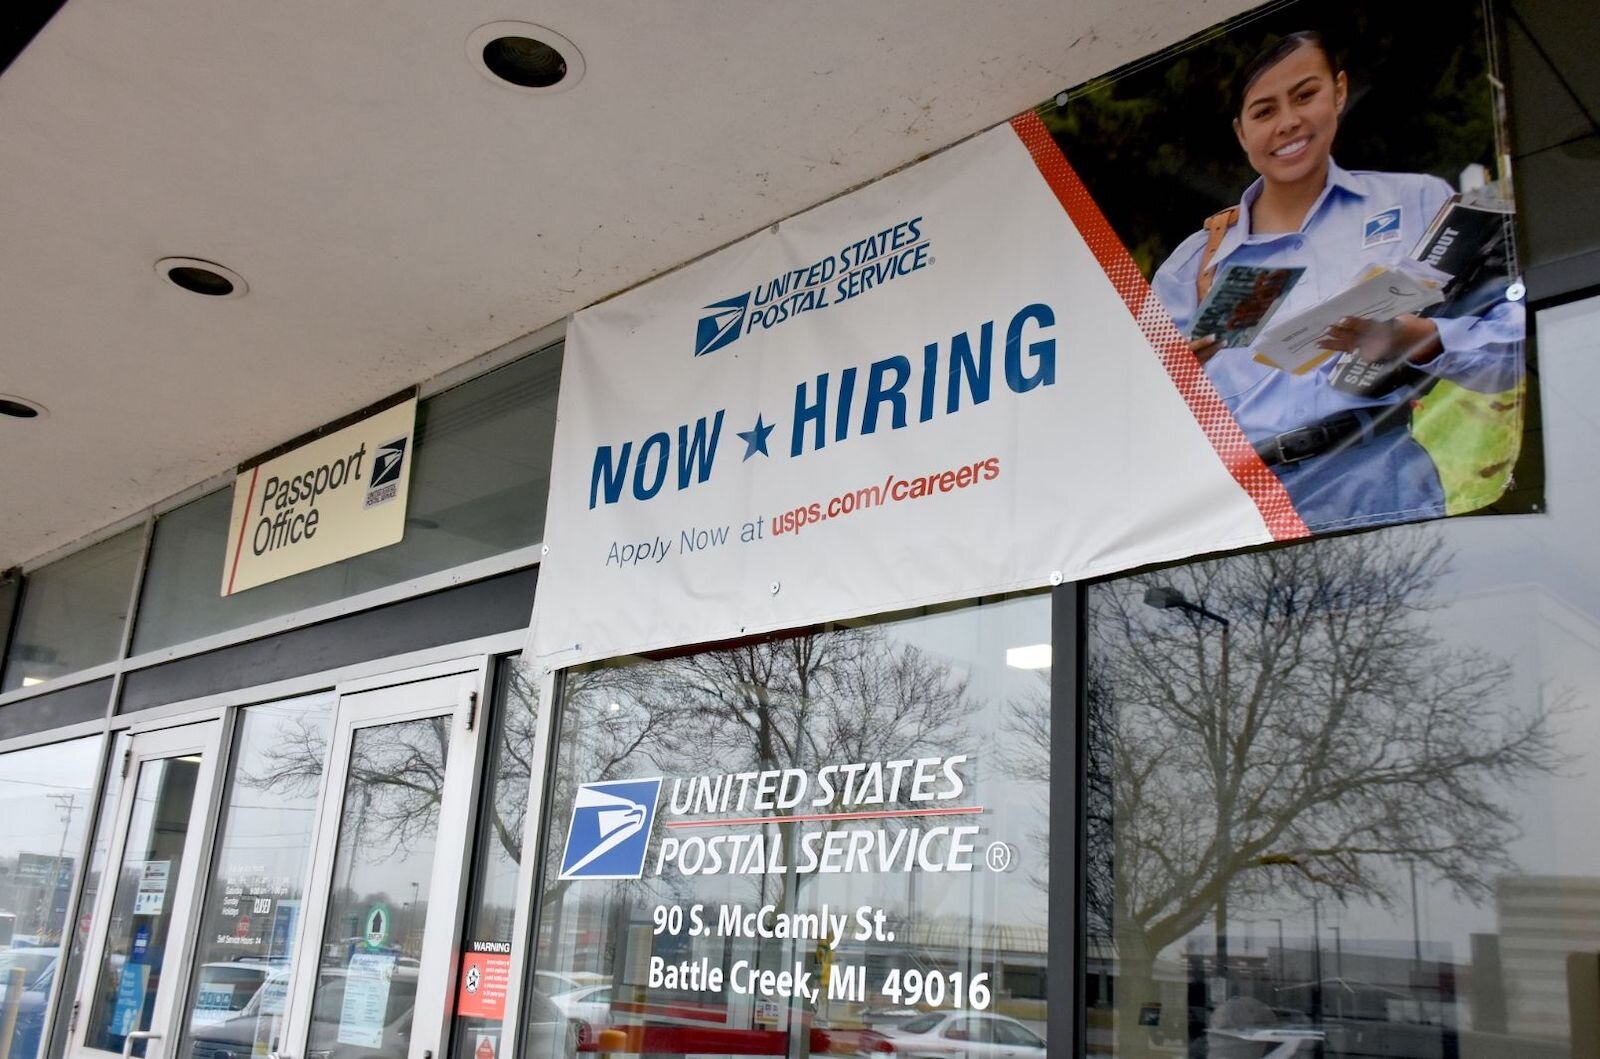
[(133, 653), (536, 544), (544, 536), (550, 491), (560, 371), (560, 349), (550, 349), (419, 405), (405, 539), (390, 547), (224, 597), (219, 585), (232, 490), (162, 515)]

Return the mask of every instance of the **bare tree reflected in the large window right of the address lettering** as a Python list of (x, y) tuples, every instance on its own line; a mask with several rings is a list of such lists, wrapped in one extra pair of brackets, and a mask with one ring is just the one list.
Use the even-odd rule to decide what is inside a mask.
[(1510, 665), (1442, 635), (1448, 561), (1392, 530), (1091, 592), (1090, 928), (1115, 945), (1118, 1054), (1149, 1048), (1157, 955), (1227, 905), (1389, 902), (1400, 862), (1477, 899), (1509, 867), (1506, 787), (1557, 753)]

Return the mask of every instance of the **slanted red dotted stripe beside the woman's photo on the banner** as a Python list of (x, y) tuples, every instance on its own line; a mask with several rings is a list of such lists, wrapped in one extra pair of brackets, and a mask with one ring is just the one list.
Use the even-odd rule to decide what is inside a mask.
[(1189, 350), (1189, 342), (1166, 315), (1166, 309), (1150, 293), (1150, 285), (1139, 272), (1128, 248), (1122, 245), (1117, 234), (1110, 230), (1106, 214), (1094, 205), (1083, 181), (1067, 163), (1066, 155), (1051, 139), (1050, 130), (1034, 112), (1011, 118), (1011, 130), (1034, 157), (1034, 165), (1056, 192), (1056, 198), (1067, 211), (1072, 224), (1077, 226), (1083, 242), (1088, 243), (1094, 259), (1099, 261), (1106, 277), (1117, 288), (1128, 312), (1133, 314), (1150, 349), (1162, 358), (1162, 366), (1171, 376), (1173, 386), (1189, 403), (1200, 429), (1211, 440), (1211, 448), (1221, 458), (1234, 480), (1250, 494), (1261, 510), (1261, 518), (1267, 523), (1267, 531), (1275, 541), (1310, 536), (1306, 523), (1294, 510), (1290, 494), (1277, 475), (1261, 462), (1256, 450), (1245, 440), (1245, 432), (1234, 422), (1216, 387), (1206, 379), (1205, 370)]

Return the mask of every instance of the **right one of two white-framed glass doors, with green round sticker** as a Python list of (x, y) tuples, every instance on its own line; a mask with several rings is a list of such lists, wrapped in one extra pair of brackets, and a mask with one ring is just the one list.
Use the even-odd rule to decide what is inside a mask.
[(482, 683), (341, 697), (278, 1059), (443, 1054)]

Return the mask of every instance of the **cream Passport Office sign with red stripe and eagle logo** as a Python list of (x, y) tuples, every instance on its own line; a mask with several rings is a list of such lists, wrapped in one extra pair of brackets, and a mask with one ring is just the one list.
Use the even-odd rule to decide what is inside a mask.
[(242, 469), (222, 595), (397, 544), (414, 427), (413, 394)]

